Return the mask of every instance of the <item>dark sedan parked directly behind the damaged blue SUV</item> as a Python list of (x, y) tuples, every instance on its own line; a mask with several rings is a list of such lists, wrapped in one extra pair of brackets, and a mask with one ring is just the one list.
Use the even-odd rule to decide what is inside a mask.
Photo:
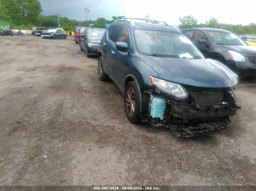
[(80, 50), (85, 51), (85, 55), (98, 55), (98, 47), (101, 37), (106, 29), (88, 28), (85, 29), (80, 37)]

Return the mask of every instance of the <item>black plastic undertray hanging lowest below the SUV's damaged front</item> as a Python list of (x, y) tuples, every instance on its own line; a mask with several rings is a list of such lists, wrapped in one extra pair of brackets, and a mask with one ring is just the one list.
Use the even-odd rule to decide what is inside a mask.
[(233, 123), (232, 120), (200, 123), (197, 126), (185, 126), (184, 124), (171, 125), (170, 130), (176, 137), (196, 137), (211, 134), (227, 128)]

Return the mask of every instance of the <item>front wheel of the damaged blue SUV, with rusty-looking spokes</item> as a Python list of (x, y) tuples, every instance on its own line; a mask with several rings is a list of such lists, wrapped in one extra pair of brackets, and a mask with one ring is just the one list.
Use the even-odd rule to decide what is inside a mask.
[(131, 123), (138, 123), (141, 120), (139, 97), (140, 94), (136, 82), (129, 82), (125, 88), (125, 114)]

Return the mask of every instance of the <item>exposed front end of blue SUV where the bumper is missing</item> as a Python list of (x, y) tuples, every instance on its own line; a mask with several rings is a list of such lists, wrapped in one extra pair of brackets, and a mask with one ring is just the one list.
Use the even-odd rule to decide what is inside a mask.
[[(157, 86), (141, 89), (141, 118), (153, 126), (169, 127), (177, 137), (193, 137), (225, 129), (237, 114), (235, 88), (202, 88), (183, 85), (184, 99), (177, 99)], [(149, 104), (148, 104), (149, 103)]]

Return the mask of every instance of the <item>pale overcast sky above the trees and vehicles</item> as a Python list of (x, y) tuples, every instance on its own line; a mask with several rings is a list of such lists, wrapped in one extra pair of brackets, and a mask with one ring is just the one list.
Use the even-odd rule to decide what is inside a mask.
[(112, 20), (112, 16), (143, 18), (149, 13), (149, 19), (165, 21), (170, 25), (178, 25), (179, 17), (191, 14), (199, 23), (211, 17), (226, 24), (247, 25), (256, 23), (255, 0), (39, 0), (43, 15), (56, 14), (62, 17), (86, 20), (84, 8), (89, 8), (88, 20), (104, 17)]

